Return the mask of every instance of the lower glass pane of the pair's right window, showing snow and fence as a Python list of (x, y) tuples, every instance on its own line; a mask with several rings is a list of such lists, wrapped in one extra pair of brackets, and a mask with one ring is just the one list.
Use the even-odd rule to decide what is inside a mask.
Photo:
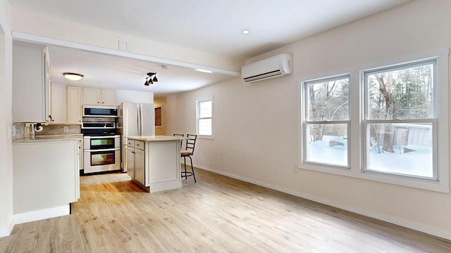
[(368, 124), (366, 169), (433, 178), (432, 131), (431, 123)]

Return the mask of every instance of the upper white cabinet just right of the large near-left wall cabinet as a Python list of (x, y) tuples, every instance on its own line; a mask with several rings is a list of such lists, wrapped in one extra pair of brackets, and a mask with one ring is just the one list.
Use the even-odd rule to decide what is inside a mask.
[(66, 124), (66, 86), (51, 83), (51, 124)]

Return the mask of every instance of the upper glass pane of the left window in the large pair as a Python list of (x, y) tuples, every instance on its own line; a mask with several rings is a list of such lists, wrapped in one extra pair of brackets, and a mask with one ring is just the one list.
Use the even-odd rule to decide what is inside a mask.
[(307, 83), (307, 120), (349, 119), (349, 78)]

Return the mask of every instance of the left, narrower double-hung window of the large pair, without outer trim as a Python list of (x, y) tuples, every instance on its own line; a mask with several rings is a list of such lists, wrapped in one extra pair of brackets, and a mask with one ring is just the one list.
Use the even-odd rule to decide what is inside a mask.
[(350, 77), (304, 82), (304, 162), (349, 167)]

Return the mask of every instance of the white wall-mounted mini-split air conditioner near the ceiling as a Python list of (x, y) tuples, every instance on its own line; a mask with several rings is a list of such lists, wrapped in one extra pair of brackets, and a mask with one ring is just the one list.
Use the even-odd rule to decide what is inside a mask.
[(282, 53), (241, 68), (241, 76), (245, 82), (257, 82), (291, 73), (292, 55), (290, 53)]

